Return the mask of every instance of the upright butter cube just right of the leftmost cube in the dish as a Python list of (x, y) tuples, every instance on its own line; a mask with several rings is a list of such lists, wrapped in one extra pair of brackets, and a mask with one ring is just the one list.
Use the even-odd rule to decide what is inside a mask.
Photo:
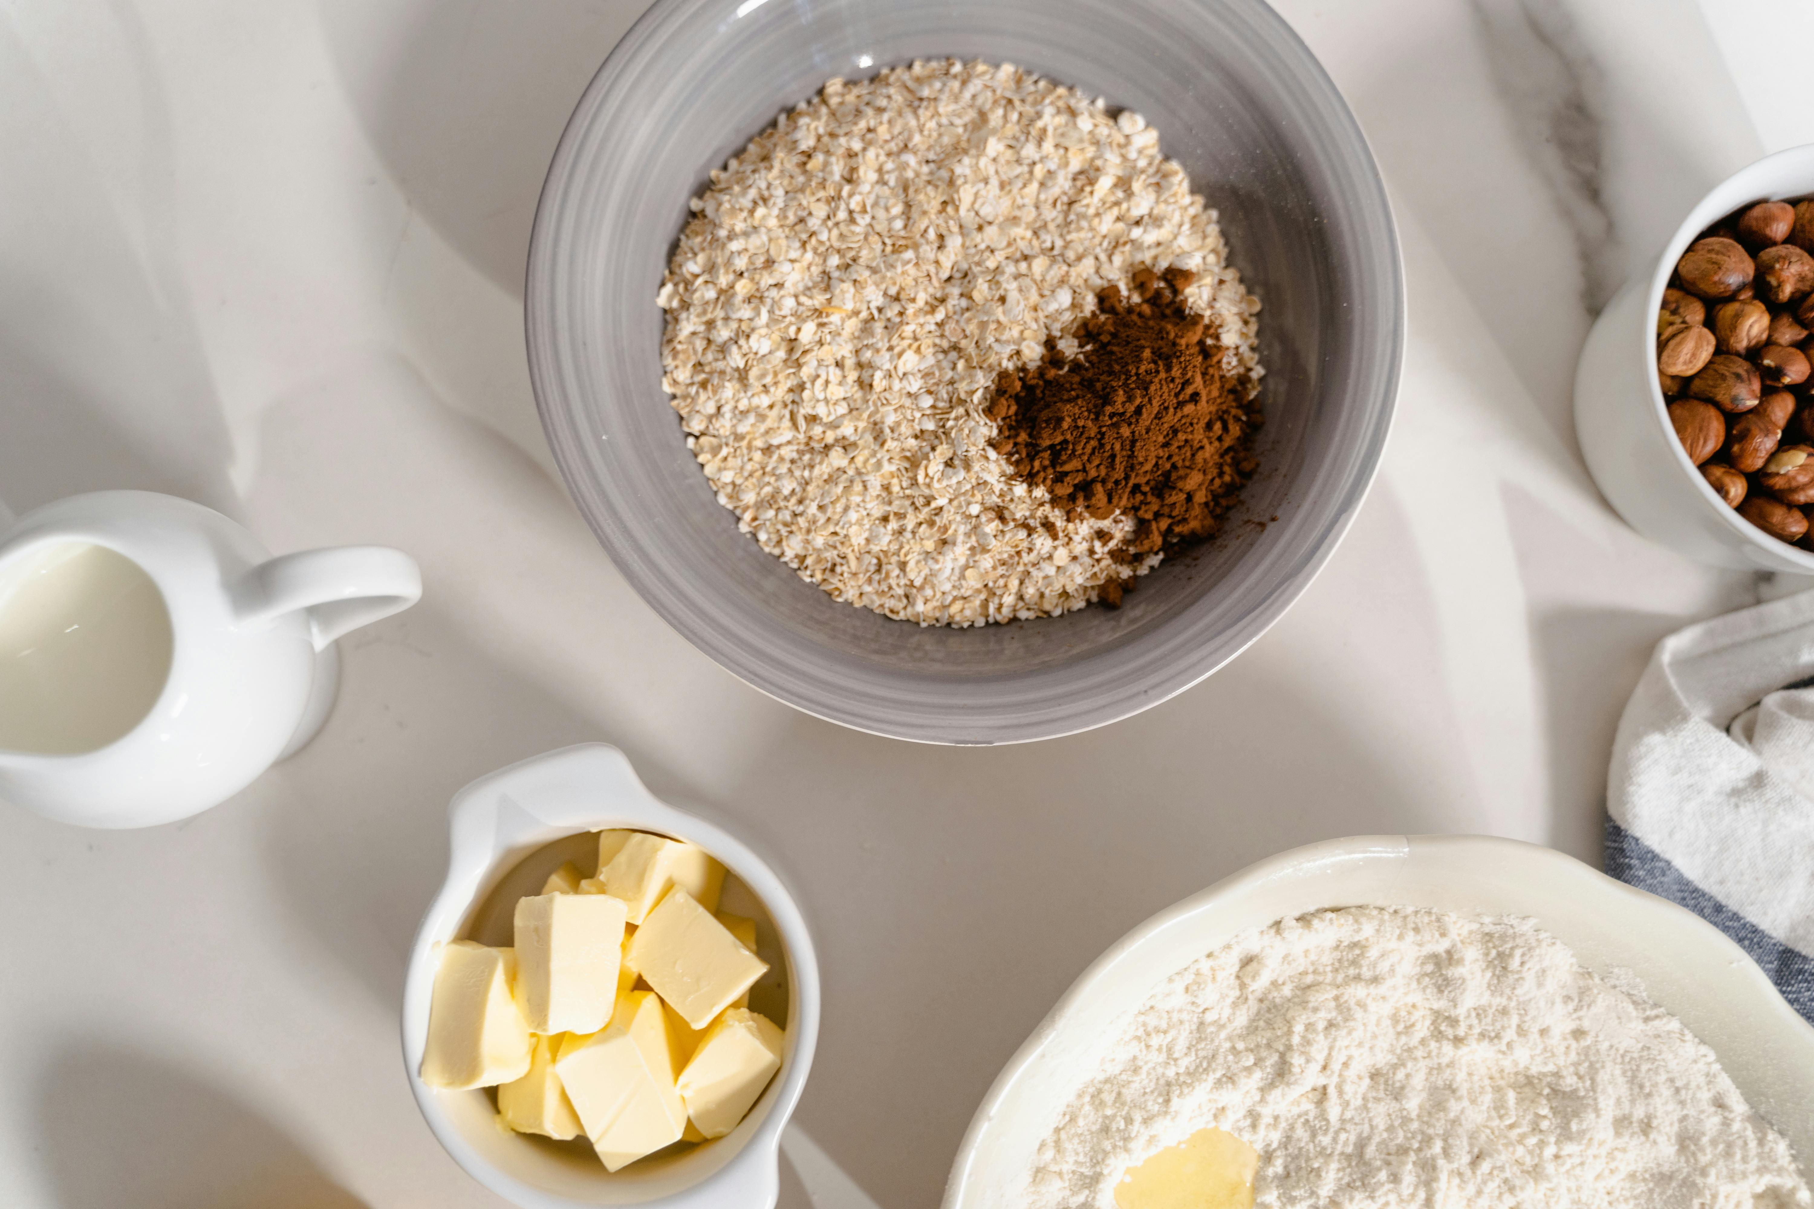
[(517, 999), (532, 1033), (597, 1033), (611, 1019), (624, 904), (602, 894), (517, 899)]

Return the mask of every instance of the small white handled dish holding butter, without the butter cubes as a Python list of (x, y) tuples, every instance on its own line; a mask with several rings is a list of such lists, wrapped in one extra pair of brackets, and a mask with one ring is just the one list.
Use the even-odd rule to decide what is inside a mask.
[[(706, 819), (655, 799), (615, 747), (584, 743), (484, 776), (448, 810), (452, 857), (415, 944), (403, 988), (403, 1064), (441, 1146), (488, 1189), (521, 1209), (662, 1205), (769, 1209), (780, 1193), (780, 1136), (800, 1102), (818, 1040), (818, 959), (805, 919), (776, 872)], [(608, 1173), (591, 1155), (510, 1133), (484, 1091), (439, 1091), (419, 1069), (428, 1037), (435, 950), (457, 939), (475, 908), (522, 857), (564, 836), (628, 827), (697, 843), (762, 899), (787, 959), (787, 1042), (782, 1068), (736, 1129), (646, 1171)]]

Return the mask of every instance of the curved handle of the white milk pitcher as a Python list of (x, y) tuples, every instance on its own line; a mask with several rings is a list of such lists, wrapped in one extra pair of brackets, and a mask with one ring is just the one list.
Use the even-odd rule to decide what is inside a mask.
[(401, 549), (339, 546), (279, 555), (234, 585), (241, 625), (308, 613), (316, 651), (361, 625), (403, 613), (423, 598), (423, 571)]

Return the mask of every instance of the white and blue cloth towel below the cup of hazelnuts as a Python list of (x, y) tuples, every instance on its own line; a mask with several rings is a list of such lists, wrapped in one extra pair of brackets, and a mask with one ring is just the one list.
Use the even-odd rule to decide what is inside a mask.
[(1705, 917), (1814, 1022), (1814, 591), (1658, 643), (1607, 816), (1605, 872)]

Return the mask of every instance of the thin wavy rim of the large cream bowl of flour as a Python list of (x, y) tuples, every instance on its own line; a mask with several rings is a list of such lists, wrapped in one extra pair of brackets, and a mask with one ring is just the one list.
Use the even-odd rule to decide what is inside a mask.
[[(1322, 908), (1312, 910), (1326, 910), (1355, 904), (1353, 899), (1342, 897), (1341, 877), (1344, 872), (1357, 872), (1362, 863), (1402, 863), (1399, 865), (1402, 870), (1400, 877), (1408, 877), (1411, 875), (1413, 861), (1435, 861), (1440, 865), (1453, 863), (1455, 859), (1487, 859), (1500, 865), (1546, 868), (1556, 875), (1578, 881), (1585, 894), (1602, 895), (1602, 901), (1624, 901), (1636, 910), (1651, 912), (1660, 919), (1667, 919), (1673, 928), (1682, 932), (1682, 935), (1692, 937), (1694, 944), (1702, 946), (1707, 953), (1718, 955), (1720, 964), (1727, 968), (1727, 975), (1743, 984), (1747, 988), (1745, 993), (1758, 997), (1758, 1002), (1761, 1004), (1760, 1010), (1774, 1017), (1781, 1030), (1803, 1046), (1803, 1051), (1810, 1060), (1810, 1068), (1814, 1068), (1814, 1024), (1801, 1019), (1801, 1015), (1789, 1006), (1789, 1001), (1778, 993), (1776, 986), (1743, 948), (1740, 948), (1731, 937), (1714, 928), (1711, 923), (1678, 903), (1671, 903), (1669, 899), (1654, 895), (1647, 890), (1640, 890), (1609, 877), (1607, 874), (1564, 852), (1520, 839), (1506, 839), (1500, 836), (1348, 836), (1342, 839), (1326, 839), (1290, 848), (1277, 856), (1255, 861), (1215, 885), (1150, 915), (1145, 923), (1137, 924), (1119, 941), (1110, 944), (1101, 957), (1092, 961), (1088, 968), (1085, 968), (1085, 972), (1079, 973), (1078, 979), (1065, 990), (1065, 993), (1059, 995), (1058, 1002), (1045, 1015), (1045, 1019), (1034, 1026), (1027, 1040), (1021, 1042), (1021, 1046), (1001, 1068), (1001, 1073), (996, 1075), (989, 1091), (983, 1093), (983, 1098), (970, 1118), (970, 1126), (963, 1133), (963, 1142), (958, 1146), (958, 1153), (952, 1160), (951, 1175), (945, 1182), (941, 1209), (978, 1207), (980, 1202), (967, 1196), (967, 1185), (976, 1169), (978, 1155), (990, 1142), (990, 1126), (996, 1124), (1005, 1100), (1014, 1091), (1016, 1084), (1029, 1075), (1039, 1057), (1065, 1033), (1072, 1017), (1081, 1013), (1085, 1004), (1099, 993), (1103, 984), (1112, 982), (1119, 975), (1117, 966), (1126, 961), (1130, 953), (1152, 943), (1154, 937), (1194, 915), (1214, 914), (1221, 908), (1237, 904), (1244, 895), (1253, 894), (1273, 881), (1297, 879), (1312, 872), (1322, 874), (1324, 881), (1331, 886), (1328, 890), (1330, 899)], [(1736, 991), (1732, 993), (1736, 995)], [(1667, 1006), (1663, 1010), (1669, 1011)], [(1801, 1164), (1803, 1176), (1814, 1180), (1814, 1155), (1798, 1153), (1796, 1158)]]

